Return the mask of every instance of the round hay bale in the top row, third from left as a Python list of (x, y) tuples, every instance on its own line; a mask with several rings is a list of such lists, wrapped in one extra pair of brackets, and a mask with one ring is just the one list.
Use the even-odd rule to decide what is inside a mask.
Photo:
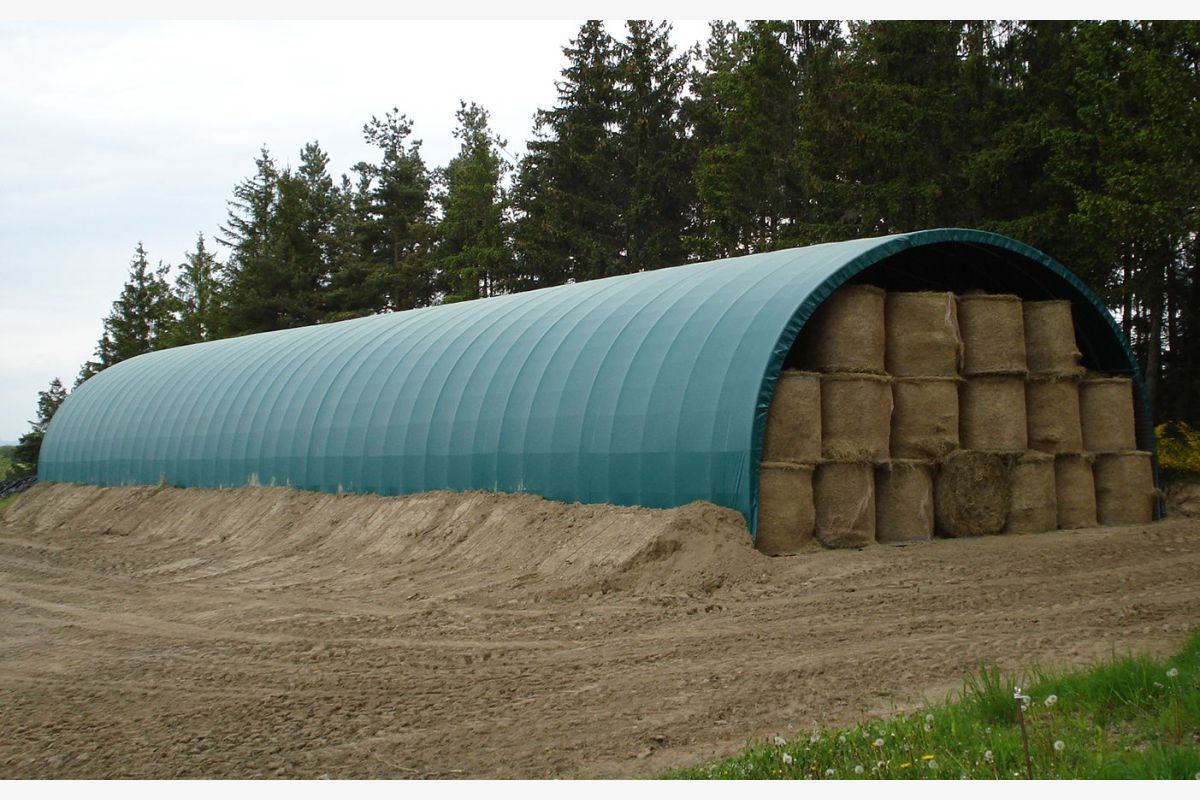
[(1025, 361), (1025, 314), (1021, 299), (1004, 294), (959, 297), (962, 374), (1021, 374)]

